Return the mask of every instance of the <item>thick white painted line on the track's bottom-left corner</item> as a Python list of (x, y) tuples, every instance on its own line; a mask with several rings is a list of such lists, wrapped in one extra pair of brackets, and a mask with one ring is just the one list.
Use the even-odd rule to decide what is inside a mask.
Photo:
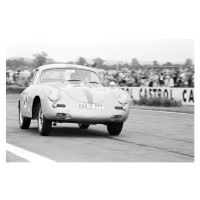
[(25, 149), (16, 147), (8, 143), (6, 143), (6, 150), (33, 163), (54, 162), (53, 160), (50, 160), (48, 158), (45, 158), (43, 156), (40, 156), (38, 154), (32, 153), (30, 151), (27, 151)]

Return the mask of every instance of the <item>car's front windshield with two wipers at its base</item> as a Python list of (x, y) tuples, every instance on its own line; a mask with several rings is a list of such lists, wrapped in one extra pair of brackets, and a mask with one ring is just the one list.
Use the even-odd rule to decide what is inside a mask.
[(99, 84), (95, 72), (84, 69), (48, 69), (42, 73), (41, 83), (71, 81)]

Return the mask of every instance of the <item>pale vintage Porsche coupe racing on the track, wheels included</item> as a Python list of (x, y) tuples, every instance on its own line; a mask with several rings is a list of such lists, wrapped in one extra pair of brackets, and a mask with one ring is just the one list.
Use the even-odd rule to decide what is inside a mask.
[(28, 129), (36, 119), (42, 136), (48, 136), (57, 123), (77, 123), (81, 129), (104, 124), (110, 135), (119, 135), (128, 118), (130, 97), (119, 88), (103, 87), (94, 68), (50, 64), (36, 69), (18, 107), (20, 128)]

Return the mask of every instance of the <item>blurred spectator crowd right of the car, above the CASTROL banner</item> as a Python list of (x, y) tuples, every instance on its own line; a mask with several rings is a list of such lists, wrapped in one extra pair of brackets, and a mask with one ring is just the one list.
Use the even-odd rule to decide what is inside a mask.
[(104, 86), (114, 82), (119, 87), (194, 87), (194, 68), (123, 68), (110, 70), (101, 78)]

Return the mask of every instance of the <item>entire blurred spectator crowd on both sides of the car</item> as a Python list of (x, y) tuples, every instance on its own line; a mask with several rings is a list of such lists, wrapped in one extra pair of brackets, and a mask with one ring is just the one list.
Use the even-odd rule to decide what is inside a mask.
[[(6, 85), (27, 87), (30, 85), (33, 71), (7, 70)], [(119, 87), (194, 87), (194, 67), (152, 67), (99, 72), (102, 84), (111, 82)]]

